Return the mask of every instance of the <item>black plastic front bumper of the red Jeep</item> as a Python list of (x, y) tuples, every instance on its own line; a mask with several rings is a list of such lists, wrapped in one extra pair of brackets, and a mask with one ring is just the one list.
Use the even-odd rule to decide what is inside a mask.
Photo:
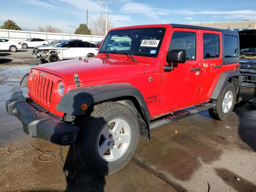
[(46, 112), (40, 112), (27, 102), (22, 91), (12, 94), (6, 102), (6, 111), (22, 122), (23, 130), (28, 136), (58, 145), (70, 145), (78, 136), (79, 127), (58, 120)]

